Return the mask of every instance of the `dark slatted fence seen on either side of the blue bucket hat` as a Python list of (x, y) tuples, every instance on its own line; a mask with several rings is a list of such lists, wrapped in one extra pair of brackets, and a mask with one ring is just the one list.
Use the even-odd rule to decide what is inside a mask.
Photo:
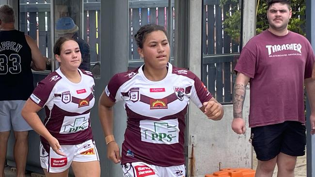
[[(91, 63), (100, 61), (100, 0), (84, 0), (83, 39), (90, 46)], [(42, 55), (51, 57), (50, 0), (20, 0), (20, 30), (36, 40)], [(79, 27), (80, 28), (80, 27)]]

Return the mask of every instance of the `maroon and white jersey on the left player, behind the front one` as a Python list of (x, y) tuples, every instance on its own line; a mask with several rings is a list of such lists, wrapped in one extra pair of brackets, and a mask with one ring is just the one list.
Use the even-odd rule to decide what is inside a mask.
[[(45, 106), (44, 125), (61, 145), (76, 145), (93, 138), (90, 109), (95, 99), (94, 79), (89, 71), (79, 70), (81, 81), (69, 81), (60, 68), (38, 83), (30, 99)], [(41, 141), (48, 143), (41, 137)]]

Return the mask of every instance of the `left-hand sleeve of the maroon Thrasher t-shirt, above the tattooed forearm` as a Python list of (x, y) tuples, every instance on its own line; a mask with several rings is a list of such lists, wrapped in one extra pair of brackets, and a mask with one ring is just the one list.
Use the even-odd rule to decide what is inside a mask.
[(257, 62), (256, 48), (251, 43), (247, 44), (243, 48), (234, 70), (248, 77), (254, 78), (256, 71), (256, 62)]

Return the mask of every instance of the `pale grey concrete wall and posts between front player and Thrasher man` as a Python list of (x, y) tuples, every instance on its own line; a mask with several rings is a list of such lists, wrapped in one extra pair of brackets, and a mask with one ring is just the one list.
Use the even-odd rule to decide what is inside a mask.
[[(201, 76), (201, 13), (202, 1), (190, 0), (189, 4), (189, 69)], [(245, 0), (243, 25), (243, 44), (255, 34), (254, 19), (255, 2)], [(254, 23), (254, 24), (248, 24)], [(245, 35), (245, 36), (244, 36)], [(243, 116), (248, 127), (249, 95), (247, 88), (243, 108)], [(189, 131), (188, 131), (188, 174), (192, 162), (191, 152), (194, 147), (195, 177), (204, 177), (205, 174), (212, 174), (221, 168), (252, 167), (252, 145), (249, 143), (250, 129), (245, 134), (238, 135), (232, 131), (233, 105), (224, 105), (224, 117), (220, 121), (209, 120), (194, 104), (189, 106)], [(219, 165), (219, 163), (221, 165)]]

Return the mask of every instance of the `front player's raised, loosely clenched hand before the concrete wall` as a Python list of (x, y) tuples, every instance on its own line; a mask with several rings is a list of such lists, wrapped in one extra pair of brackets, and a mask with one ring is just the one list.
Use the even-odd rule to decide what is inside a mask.
[(205, 115), (212, 120), (220, 120), (223, 117), (223, 106), (215, 101), (208, 101), (203, 103), (205, 107)]

